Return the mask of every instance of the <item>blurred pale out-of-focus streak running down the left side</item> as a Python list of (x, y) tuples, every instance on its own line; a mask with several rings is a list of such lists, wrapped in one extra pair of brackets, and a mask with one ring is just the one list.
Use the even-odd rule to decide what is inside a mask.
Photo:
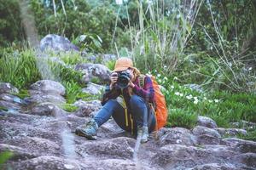
[[(38, 31), (35, 26), (35, 20), (32, 15), (32, 11), (29, 8), (28, 1), (20, 0), (19, 5), (20, 5), (20, 17), (22, 20), (22, 24), (25, 28), (26, 39), (28, 41), (29, 46), (31, 48), (34, 48), (36, 51), (38, 71), (40, 71), (43, 79), (50, 79), (56, 82), (60, 82), (61, 78), (53, 74), (53, 72), (49, 69), (49, 65), (47, 61), (43, 58), (45, 57), (46, 54), (42, 54), (38, 49), (39, 48)], [(58, 105), (58, 104), (55, 104), (55, 105)], [(59, 114), (57, 114), (55, 117), (57, 119), (62, 118)], [(59, 128), (61, 132), (60, 138), (62, 141), (61, 147), (64, 150), (65, 156), (67, 158), (75, 159), (76, 152), (75, 152), (73, 133), (71, 133), (71, 130), (67, 126), (59, 126)]]

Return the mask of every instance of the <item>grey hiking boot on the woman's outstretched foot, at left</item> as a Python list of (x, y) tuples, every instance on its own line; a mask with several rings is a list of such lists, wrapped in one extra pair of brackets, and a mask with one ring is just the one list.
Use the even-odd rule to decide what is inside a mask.
[(76, 128), (75, 133), (90, 140), (96, 140), (96, 131), (98, 129), (97, 123), (94, 119), (87, 122), (85, 125)]

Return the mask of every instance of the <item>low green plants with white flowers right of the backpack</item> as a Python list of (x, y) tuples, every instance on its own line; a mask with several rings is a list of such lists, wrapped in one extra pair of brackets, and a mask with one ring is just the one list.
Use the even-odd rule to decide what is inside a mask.
[[(201, 94), (180, 85), (179, 79), (156, 77), (157, 81), (166, 88), (164, 94), (169, 111), (196, 113), (209, 116), (218, 127), (230, 127), (230, 122), (256, 122), (255, 94), (231, 94), (230, 92), (212, 92)], [(172, 80), (172, 81), (171, 81)]]

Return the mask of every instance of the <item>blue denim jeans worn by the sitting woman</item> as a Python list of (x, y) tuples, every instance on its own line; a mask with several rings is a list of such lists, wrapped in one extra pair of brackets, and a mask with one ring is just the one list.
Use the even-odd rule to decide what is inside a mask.
[[(145, 100), (138, 95), (134, 94), (130, 99), (131, 111), (129, 114), (133, 117), (134, 125), (133, 129), (136, 131), (137, 127), (146, 126), (148, 132), (154, 131), (155, 117), (154, 112), (151, 111), (149, 105)], [(104, 122), (113, 116), (114, 121), (126, 131), (131, 131), (131, 127), (125, 126), (125, 109), (119, 104), (116, 99), (109, 99), (108, 102), (103, 105), (102, 109), (97, 112), (94, 120), (98, 126), (102, 126)]]

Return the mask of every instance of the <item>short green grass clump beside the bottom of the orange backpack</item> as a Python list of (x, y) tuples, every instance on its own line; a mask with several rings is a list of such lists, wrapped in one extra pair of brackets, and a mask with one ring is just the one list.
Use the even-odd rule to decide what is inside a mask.
[(183, 109), (169, 109), (167, 127), (193, 128), (197, 122), (197, 115)]

